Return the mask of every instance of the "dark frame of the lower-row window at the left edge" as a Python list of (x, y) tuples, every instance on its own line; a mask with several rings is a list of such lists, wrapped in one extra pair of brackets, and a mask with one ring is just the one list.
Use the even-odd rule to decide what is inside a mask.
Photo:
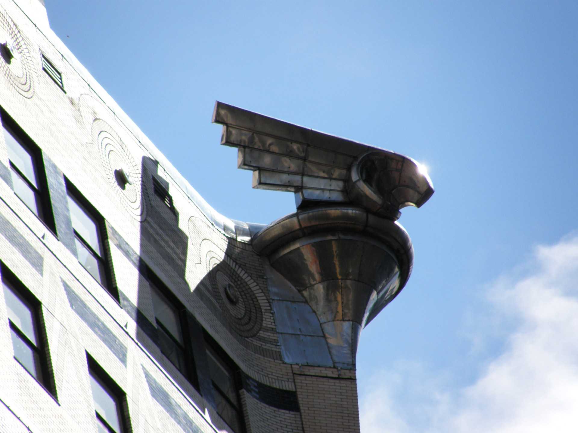
[(0, 262), (0, 272), (2, 274), (2, 285), (6, 284), (9, 290), (11, 290), (15, 296), (20, 298), (20, 300), (23, 301), (23, 304), (28, 307), (32, 313), (32, 319), (34, 320), (34, 333), (36, 339), (38, 339), (38, 344), (34, 344), (34, 342), (30, 341), (27, 335), (24, 334), (24, 332), (20, 330), (20, 328), (10, 320), (10, 318), (8, 319), (8, 325), (10, 330), (14, 331), (18, 338), (20, 338), (28, 348), (38, 355), (41, 377), (37, 378), (32, 372), (28, 371), (28, 368), (17, 359), (16, 354), (14, 354), (14, 360), (16, 360), (16, 362), (20, 364), (25, 371), (54, 398), (55, 401), (58, 402), (56, 383), (54, 381), (53, 371), (50, 368), (50, 352), (46, 341), (46, 328), (44, 326), (44, 318), (42, 315), (42, 303), (30, 292), (24, 283), (20, 281), (20, 278), (18, 278), (16, 274), (14, 274), (3, 262)]

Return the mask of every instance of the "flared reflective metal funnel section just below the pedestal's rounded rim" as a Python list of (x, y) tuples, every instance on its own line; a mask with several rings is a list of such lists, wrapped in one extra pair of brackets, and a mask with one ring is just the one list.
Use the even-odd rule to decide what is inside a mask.
[[(348, 252), (360, 259), (350, 259)], [(291, 283), (321, 323), (352, 320), (365, 326), (401, 290), (399, 265), (386, 245), (362, 236), (306, 236), (271, 256), (271, 266)], [(375, 293), (373, 293), (375, 292)], [(377, 301), (367, 311), (373, 297)]]

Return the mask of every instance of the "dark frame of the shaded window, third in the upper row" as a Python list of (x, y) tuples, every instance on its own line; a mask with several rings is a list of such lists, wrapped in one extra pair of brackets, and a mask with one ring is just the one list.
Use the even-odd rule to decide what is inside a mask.
[[(162, 349), (160, 346), (159, 346), (159, 350), (161, 350), (161, 353), (163, 354), (163, 356), (166, 359), (168, 359), (169, 362), (178, 371), (180, 371), (180, 373), (184, 376), (184, 378), (186, 378), (188, 380), (188, 382), (190, 382), (191, 385), (197, 391), (199, 391), (199, 381), (198, 381), (198, 377), (197, 377), (197, 369), (195, 368), (195, 363), (194, 363), (194, 359), (193, 359), (190, 327), (188, 326), (188, 319), (187, 319), (187, 310), (184, 307), (184, 305), (179, 301), (179, 299), (175, 296), (175, 294), (171, 292), (171, 290), (168, 288), (168, 286), (166, 286), (166, 284), (164, 282), (162, 282), (162, 280), (158, 277), (158, 275), (155, 274), (154, 271), (151, 270), (151, 268), (149, 266), (147, 266), (145, 263), (142, 262), (141, 266), (140, 266), (140, 270), (144, 274), (144, 277), (149, 282), (149, 285), (151, 286), (151, 290), (157, 290), (158, 292), (160, 292), (162, 294), (162, 296), (165, 298), (165, 300), (168, 301), (168, 303), (171, 304), (171, 306), (177, 312), (178, 319), (179, 319), (180, 331), (181, 331), (181, 334), (183, 335), (183, 344), (181, 344), (179, 341), (177, 341), (177, 339), (175, 337), (173, 337), (173, 335), (171, 334), (171, 331), (166, 329), (166, 326), (164, 326), (164, 324), (162, 324), (162, 322), (160, 322), (157, 319), (157, 314), (154, 311), (154, 305), (153, 305), (153, 314), (154, 314), (155, 326), (160, 328), (164, 334), (166, 334), (169, 338), (171, 338), (171, 341), (173, 341), (173, 343), (175, 343), (177, 346), (179, 346), (181, 349), (183, 349), (183, 358), (184, 358), (184, 368), (183, 369), (184, 369), (184, 371), (183, 371), (183, 369), (179, 368), (178, 365), (175, 365), (175, 363), (173, 363), (173, 361), (164, 352), (162, 352)], [(151, 294), (151, 296), (152, 296), (152, 294)]]

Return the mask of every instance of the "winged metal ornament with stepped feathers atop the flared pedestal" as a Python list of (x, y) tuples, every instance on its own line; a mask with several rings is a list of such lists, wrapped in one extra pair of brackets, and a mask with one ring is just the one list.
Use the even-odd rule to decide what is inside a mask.
[(356, 203), (388, 218), (420, 207), (431, 180), (413, 159), (216, 102), (221, 144), (238, 148), (238, 167), (253, 170), (253, 188), (295, 193), (297, 207)]

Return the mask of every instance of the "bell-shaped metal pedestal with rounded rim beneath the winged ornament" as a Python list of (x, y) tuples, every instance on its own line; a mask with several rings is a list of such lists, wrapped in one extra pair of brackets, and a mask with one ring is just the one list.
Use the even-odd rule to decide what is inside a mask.
[[(354, 368), (362, 327), (397, 296), (413, 261), (411, 241), (398, 223), (354, 207), (298, 211), (267, 226), (253, 247), (312, 309), (331, 363), (340, 368)], [(307, 329), (291, 332), (314, 332)], [(295, 361), (291, 348), (284, 353)]]

